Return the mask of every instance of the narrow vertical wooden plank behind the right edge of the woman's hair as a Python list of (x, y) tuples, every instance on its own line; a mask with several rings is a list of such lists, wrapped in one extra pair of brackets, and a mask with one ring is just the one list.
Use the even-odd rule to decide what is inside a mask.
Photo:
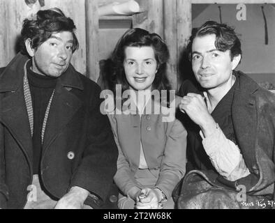
[(168, 78), (172, 89), (177, 90), (177, 1), (163, 1), (164, 40), (170, 51)]

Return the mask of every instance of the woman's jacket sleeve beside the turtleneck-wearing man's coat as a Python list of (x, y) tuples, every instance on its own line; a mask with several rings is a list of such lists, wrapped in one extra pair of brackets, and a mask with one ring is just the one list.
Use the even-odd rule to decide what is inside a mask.
[(114, 182), (117, 184), (117, 187), (119, 187), (119, 190), (121, 190), (125, 196), (128, 196), (129, 190), (132, 188), (137, 189), (137, 181), (135, 180), (133, 171), (131, 171), (129, 162), (126, 160), (126, 157), (121, 150), (121, 146), (119, 145), (116, 118), (112, 114), (108, 114), (108, 117), (112, 126), (112, 132), (114, 133), (114, 140), (119, 151), (119, 157), (117, 159), (117, 173), (114, 175)]

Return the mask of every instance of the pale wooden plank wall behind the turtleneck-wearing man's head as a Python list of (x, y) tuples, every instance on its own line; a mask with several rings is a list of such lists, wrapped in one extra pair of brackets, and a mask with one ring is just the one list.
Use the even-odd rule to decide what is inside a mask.
[[(94, 1), (94, 0), (93, 0)], [(77, 27), (76, 36), (80, 42), (80, 49), (73, 55), (72, 63), (75, 68), (86, 73), (86, 31), (84, 0), (47, 0), (45, 6), (40, 7), (37, 1), (32, 7), (24, 0), (0, 0), (0, 67), (6, 66), (16, 54), (15, 43), (20, 36), (24, 18), (31, 16), (38, 10), (58, 7), (65, 15), (71, 17)]]

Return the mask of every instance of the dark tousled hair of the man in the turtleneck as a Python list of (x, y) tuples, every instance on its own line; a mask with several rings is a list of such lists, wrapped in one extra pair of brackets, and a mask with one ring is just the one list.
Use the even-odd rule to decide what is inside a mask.
[(73, 34), (73, 52), (78, 49), (79, 43), (75, 36), (75, 24), (70, 17), (66, 17), (59, 8), (39, 10), (36, 16), (23, 21), (21, 52), (28, 55), (25, 42), (31, 39), (31, 47), (37, 49), (52, 33), (70, 31)]

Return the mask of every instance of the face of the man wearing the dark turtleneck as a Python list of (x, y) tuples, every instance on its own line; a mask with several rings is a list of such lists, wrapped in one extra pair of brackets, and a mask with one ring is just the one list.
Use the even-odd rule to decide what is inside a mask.
[(39, 75), (59, 77), (70, 64), (72, 48), (72, 33), (69, 31), (52, 33), (52, 36), (37, 49), (32, 49), (32, 70)]

